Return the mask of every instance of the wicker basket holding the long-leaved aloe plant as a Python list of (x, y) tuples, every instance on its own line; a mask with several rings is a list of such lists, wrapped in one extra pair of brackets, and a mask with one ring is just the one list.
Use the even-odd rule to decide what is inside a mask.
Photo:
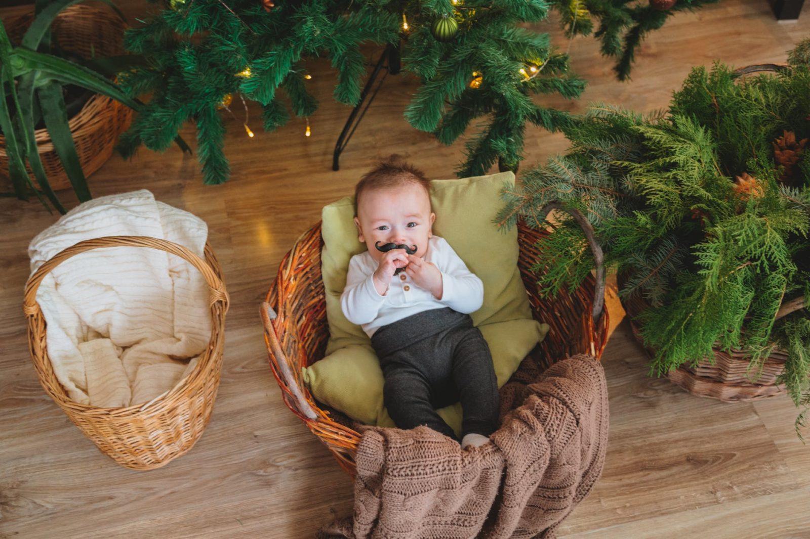
[[(11, 21), (6, 31), (12, 41), (19, 43), (33, 20), (33, 14)], [(62, 49), (83, 58), (125, 54), (122, 38), (126, 26), (109, 9), (90, 6), (70, 6), (62, 11), (51, 27), (54, 39)], [(100, 54), (102, 53), (102, 54)], [(104, 95), (93, 95), (82, 109), (70, 118), (70, 133), (79, 154), (85, 176), (96, 172), (113, 155), (113, 147), (132, 122), (133, 111)], [(70, 189), (70, 180), (62, 161), (53, 149), (48, 129), (36, 129), (36, 146), (48, 182), (55, 190)], [(8, 177), (6, 140), (0, 135), (0, 175)], [(26, 163), (28, 174), (36, 178)]]

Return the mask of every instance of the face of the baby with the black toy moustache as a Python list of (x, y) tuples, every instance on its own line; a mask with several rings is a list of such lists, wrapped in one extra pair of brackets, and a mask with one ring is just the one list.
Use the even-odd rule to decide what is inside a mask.
[(435, 219), (428, 193), (421, 185), (373, 189), (360, 197), (355, 218), (357, 238), (366, 244), (375, 261), (383, 255), (375, 247), (377, 242), (416, 245), (416, 257), (424, 257)]

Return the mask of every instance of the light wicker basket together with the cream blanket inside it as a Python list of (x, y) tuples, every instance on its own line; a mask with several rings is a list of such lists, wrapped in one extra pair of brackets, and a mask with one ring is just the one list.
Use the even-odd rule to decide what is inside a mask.
[(100, 197), (29, 255), (24, 310), (45, 392), (122, 466), (188, 452), (211, 417), (228, 310), (205, 223), (148, 191)]

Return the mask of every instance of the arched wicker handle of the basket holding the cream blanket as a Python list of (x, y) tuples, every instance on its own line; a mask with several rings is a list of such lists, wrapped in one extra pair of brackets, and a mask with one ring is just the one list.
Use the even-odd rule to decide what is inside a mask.
[(68, 258), (75, 257), (75, 255), (79, 253), (108, 247), (155, 248), (185, 259), (185, 261), (188, 261), (203, 274), (203, 278), (205, 278), (208, 283), (208, 290), (210, 292), (209, 305), (221, 301), (224, 303), (224, 308), (226, 310), (228, 309), (228, 291), (225, 290), (224, 282), (222, 282), (220, 276), (215, 273), (214, 269), (211, 269), (211, 266), (208, 265), (206, 261), (194, 254), (189, 248), (185, 248), (182, 245), (175, 244), (168, 240), (160, 240), (150, 236), (105, 236), (80, 241), (78, 244), (71, 245), (54, 255), (49, 261), (45, 262), (45, 264), (40, 265), (39, 269), (34, 272), (25, 284), (23, 311), (26, 316), (34, 316), (40, 312), (40, 305), (36, 303), (36, 291), (39, 290), (42, 279), (44, 279), (53, 268), (62, 264), (62, 262), (66, 261)]

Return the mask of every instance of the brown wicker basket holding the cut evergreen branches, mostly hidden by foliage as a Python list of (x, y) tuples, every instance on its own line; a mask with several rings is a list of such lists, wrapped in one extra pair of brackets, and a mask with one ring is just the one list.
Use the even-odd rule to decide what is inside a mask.
[[(627, 311), (633, 335), (644, 346), (641, 326), (634, 319), (650, 308), (650, 305), (639, 297), (622, 299), (622, 305)], [(645, 350), (650, 357), (654, 355), (654, 350), (647, 347)], [(755, 401), (787, 393), (783, 385), (776, 384), (777, 377), (785, 370), (786, 360), (787, 353), (776, 350), (761, 368), (752, 368), (748, 354), (740, 350), (732, 350), (728, 354), (715, 345), (714, 363), (701, 360), (696, 367), (684, 364), (669, 371), (667, 378), (698, 397), (710, 397), (724, 402)]]

